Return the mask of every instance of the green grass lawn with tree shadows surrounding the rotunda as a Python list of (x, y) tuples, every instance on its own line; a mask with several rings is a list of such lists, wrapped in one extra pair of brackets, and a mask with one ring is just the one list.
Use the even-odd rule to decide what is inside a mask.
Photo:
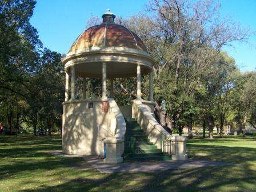
[(101, 174), (82, 158), (45, 153), (61, 149), (61, 139), (0, 135), (0, 191), (256, 191), (256, 137), (192, 139), (190, 159), (235, 163), (226, 167), (158, 173)]

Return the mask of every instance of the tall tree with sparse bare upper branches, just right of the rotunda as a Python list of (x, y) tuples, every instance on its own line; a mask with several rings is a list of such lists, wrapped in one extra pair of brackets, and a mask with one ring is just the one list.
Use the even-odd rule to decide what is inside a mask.
[[(195, 106), (189, 103), (198, 87), (207, 82), (207, 76), (215, 73), (210, 69), (213, 61), (218, 62), (219, 51), (247, 37), (247, 31), (238, 25), (219, 19), (218, 9), (219, 5), (211, 1), (154, 0), (147, 6), (150, 15), (121, 19), (142, 38), (156, 61), (155, 98), (166, 101), (170, 130), (191, 126), (189, 111)], [(213, 119), (210, 114), (205, 116), (208, 120)]]

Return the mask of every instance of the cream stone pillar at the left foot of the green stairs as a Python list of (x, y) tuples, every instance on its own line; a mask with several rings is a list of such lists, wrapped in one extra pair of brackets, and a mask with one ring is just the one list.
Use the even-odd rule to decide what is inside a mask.
[(123, 158), (121, 157), (123, 139), (110, 137), (106, 138), (104, 143), (106, 145), (106, 158), (103, 159), (103, 162), (111, 164), (123, 162)]

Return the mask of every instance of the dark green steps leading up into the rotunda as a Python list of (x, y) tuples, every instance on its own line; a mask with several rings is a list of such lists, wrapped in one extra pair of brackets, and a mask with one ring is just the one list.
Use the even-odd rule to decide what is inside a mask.
[(170, 156), (157, 149), (134, 118), (126, 118), (125, 161), (165, 161)]

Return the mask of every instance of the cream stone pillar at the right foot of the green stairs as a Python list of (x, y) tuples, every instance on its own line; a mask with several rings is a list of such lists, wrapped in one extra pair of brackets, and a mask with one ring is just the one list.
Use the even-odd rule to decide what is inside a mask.
[(186, 141), (187, 141), (187, 138), (183, 136), (180, 136), (180, 135), (171, 136), (171, 145), (172, 145), (171, 159), (187, 160)]

